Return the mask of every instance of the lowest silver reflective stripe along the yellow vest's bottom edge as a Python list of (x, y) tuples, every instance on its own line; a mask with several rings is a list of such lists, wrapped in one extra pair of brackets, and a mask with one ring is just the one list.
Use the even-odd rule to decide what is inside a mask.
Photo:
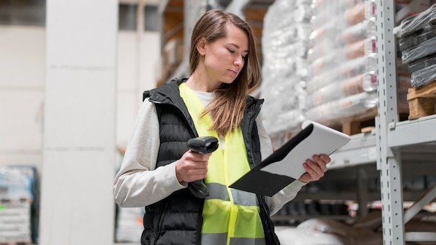
[[(223, 245), (227, 244), (227, 233), (205, 233), (201, 234), (202, 245)], [(230, 245), (266, 245), (265, 238), (239, 238), (231, 237)]]

